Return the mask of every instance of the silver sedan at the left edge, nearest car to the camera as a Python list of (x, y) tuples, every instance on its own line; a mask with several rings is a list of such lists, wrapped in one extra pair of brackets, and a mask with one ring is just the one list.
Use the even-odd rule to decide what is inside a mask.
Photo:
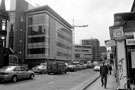
[(30, 78), (35, 76), (33, 71), (26, 70), (22, 66), (6, 66), (0, 69), (0, 81), (17, 82), (19, 79)]

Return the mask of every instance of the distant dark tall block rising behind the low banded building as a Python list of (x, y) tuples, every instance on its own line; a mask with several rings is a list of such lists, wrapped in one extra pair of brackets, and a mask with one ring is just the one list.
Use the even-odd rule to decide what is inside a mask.
[(98, 39), (84, 39), (82, 45), (92, 45), (93, 60), (97, 61), (100, 59), (100, 43)]

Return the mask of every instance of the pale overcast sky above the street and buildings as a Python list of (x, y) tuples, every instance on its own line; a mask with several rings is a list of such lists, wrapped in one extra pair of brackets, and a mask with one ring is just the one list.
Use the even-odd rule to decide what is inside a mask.
[[(1, 0), (0, 0), (1, 1)], [(100, 46), (110, 39), (109, 26), (114, 24), (114, 14), (130, 12), (133, 0), (26, 0), (32, 5), (49, 5), (69, 24), (88, 25), (75, 28), (75, 44), (82, 39), (98, 39)], [(10, 0), (5, 0), (9, 9)]]

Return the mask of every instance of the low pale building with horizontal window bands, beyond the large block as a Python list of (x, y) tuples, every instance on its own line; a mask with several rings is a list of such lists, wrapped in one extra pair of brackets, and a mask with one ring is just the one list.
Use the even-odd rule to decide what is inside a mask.
[(92, 61), (92, 59), (91, 45), (75, 45), (75, 61), (87, 63), (87, 61)]

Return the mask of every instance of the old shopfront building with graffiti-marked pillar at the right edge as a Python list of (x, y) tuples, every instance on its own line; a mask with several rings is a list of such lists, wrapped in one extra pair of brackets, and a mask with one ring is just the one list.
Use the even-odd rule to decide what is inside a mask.
[[(135, 81), (135, 1), (131, 12), (114, 14), (114, 25), (110, 29), (111, 40), (115, 40), (115, 69), (116, 78), (119, 83), (118, 89), (129, 89), (129, 86)], [(131, 83), (129, 83), (131, 81)], [(129, 82), (128, 82), (129, 81)], [(129, 83), (129, 84), (125, 84)], [(126, 88), (125, 88), (126, 87)], [(134, 89), (134, 87), (133, 87)]]

